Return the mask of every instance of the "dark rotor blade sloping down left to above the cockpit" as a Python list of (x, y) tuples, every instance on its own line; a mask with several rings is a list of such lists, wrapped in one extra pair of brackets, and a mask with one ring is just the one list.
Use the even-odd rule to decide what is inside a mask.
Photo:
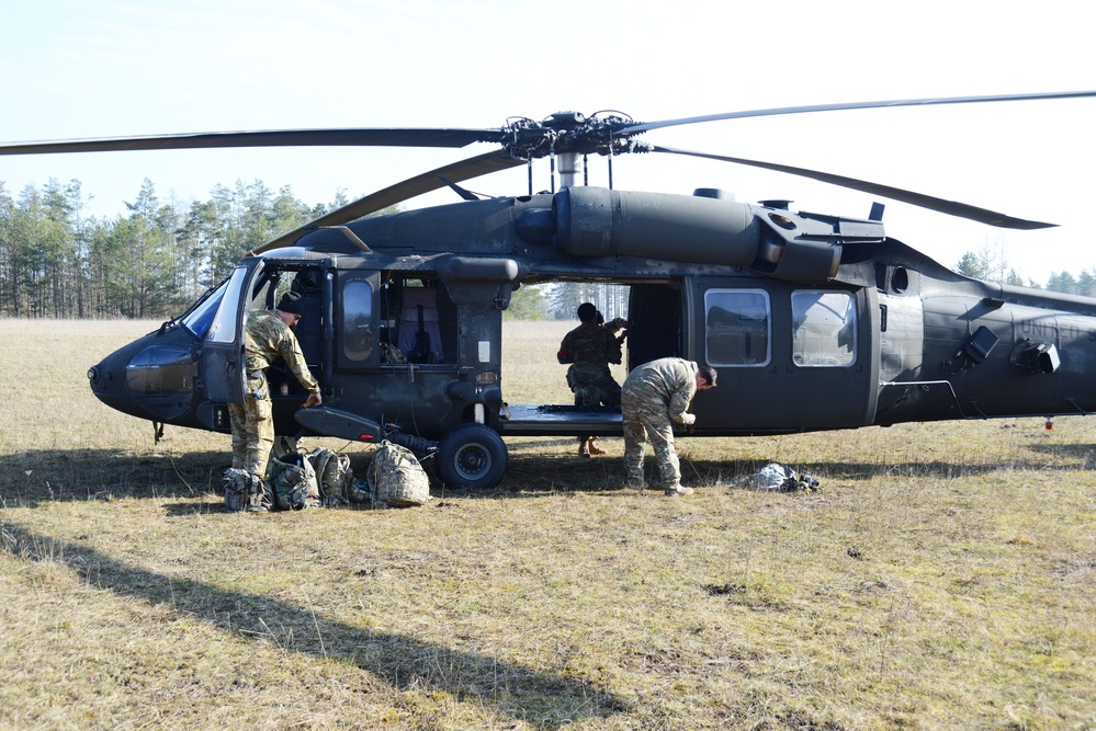
[(396, 183), (395, 185), (389, 185), (388, 187), (376, 191), (375, 193), (371, 193), (363, 198), (359, 198), (358, 201), (325, 214), (315, 220), (310, 220), (289, 233), (283, 233), (276, 239), (272, 239), (251, 250), (250, 253), (261, 254), (262, 252), (270, 251), (271, 249), (292, 245), (293, 242), (308, 231), (323, 228), (325, 226), (341, 226), (342, 224), (349, 224), (350, 221), (357, 220), (362, 216), (374, 214), (377, 210), (382, 210), (388, 206), (394, 206), (397, 203), (403, 203), (404, 201), (414, 198), (417, 195), (422, 195), (423, 193), (430, 193), (431, 191), (445, 187), (445, 180), (453, 183), (460, 183), (465, 180), (478, 178), (479, 175), (487, 175), (493, 172), (509, 170), (510, 168), (517, 168), (518, 165), (523, 164), (526, 164), (524, 160), (511, 158), (502, 150), (495, 150), (474, 158), (453, 162), (442, 168), (438, 168), (437, 170), (431, 170), (420, 175), (416, 175), (415, 178), (409, 178), (400, 183)]

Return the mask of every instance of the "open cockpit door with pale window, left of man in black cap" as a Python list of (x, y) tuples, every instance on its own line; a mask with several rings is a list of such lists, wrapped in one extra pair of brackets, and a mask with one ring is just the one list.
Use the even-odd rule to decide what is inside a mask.
[[(233, 272), (221, 300), (213, 324), (202, 344), (199, 373), (205, 398), (216, 403), (244, 403), (247, 390), (244, 368), (245, 312), (250, 310), (251, 285), (262, 270), (262, 261), (240, 262)], [(212, 426), (227, 429), (221, 423), (227, 410), (214, 410)]]

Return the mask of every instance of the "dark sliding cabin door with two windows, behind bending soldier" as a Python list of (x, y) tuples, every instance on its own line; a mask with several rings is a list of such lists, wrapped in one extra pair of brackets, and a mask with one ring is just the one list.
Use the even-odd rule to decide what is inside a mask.
[(698, 277), (686, 298), (685, 357), (719, 372), (693, 401), (698, 432), (872, 423), (879, 336), (866, 289)]

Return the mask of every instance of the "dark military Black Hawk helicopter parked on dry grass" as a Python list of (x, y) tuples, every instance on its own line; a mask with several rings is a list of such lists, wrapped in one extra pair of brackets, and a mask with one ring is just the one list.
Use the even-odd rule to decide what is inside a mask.
[[(496, 129), (301, 129), (0, 146), (3, 155), (264, 146), (496, 149), (378, 191), (249, 252), (187, 312), (88, 372), (104, 403), (163, 424), (229, 431), (241, 402), (246, 315), (279, 287), (304, 295), (296, 328), (324, 395), (300, 409), (269, 374), (287, 437), (389, 438), (433, 453), (462, 488), (496, 486), (511, 435), (618, 435), (619, 411), (505, 404), (502, 311), (520, 286), (628, 288), (630, 366), (681, 356), (720, 388), (693, 404), (696, 436), (782, 434), (900, 422), (1096, 410), (1096, 299), (956, 274), (889, 238), (881, 213), (851, 219), (694, 195), (578, 184), (587, 156), (696, 156), (804, 175), (992, 226), (1013, 218), (866, 181), (651, 145), (640, 133), (747, 116), (1094, 96), (1096, 91), (772, 108), (640, 124), (560, 113)], [(479, 199), (459, 183), (549, 157), (560, 189)], [(610, 173), (611, 175), (611, 173)], [(362, 218), (450, 186), (461, 202)], [(554, 344), (546, 344), (551, 357)], [(399, 353), (397, 355), (397, 352)], [(418, 356), (417, 356), (418, 355)], [(436, 450), (436, 452), (434, 452)]]

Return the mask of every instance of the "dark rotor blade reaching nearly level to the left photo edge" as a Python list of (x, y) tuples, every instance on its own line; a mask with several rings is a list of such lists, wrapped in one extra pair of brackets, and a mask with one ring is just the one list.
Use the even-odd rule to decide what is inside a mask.
[(53, 152), (118, 152), (125, 150), (184, 150), (224, 147), (465, 147), (498, 142), (499, 129), (285, 129), (207, 132), (148, 137), (102, 137), (0, 144), (0, 155)]

